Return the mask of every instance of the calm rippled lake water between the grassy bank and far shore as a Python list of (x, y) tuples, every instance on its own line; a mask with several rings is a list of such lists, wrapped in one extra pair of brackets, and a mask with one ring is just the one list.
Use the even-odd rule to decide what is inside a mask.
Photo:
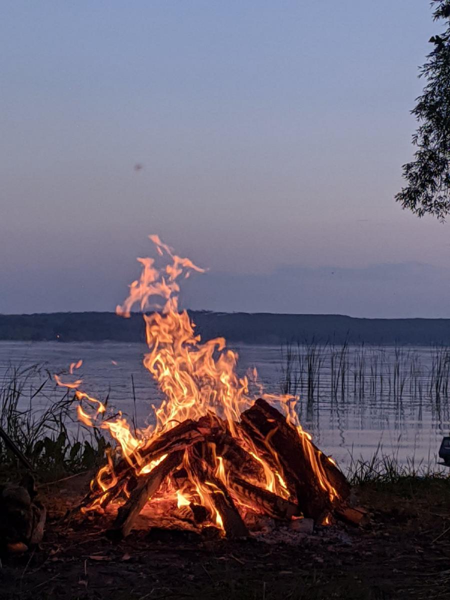
[[(280, 347), (231, 347), (239, 353), (239, 374), (256, 366), (265, 391), (280, 392), (286, 379)], [(142, 344), (0, 341), (0, 385), (8, 379), (10, 365), (39, 363), (49, 373), (59, 373), (83, 359), (83, 391), (99, 398), (109, 395), (109, 406), (128, 414), (133, 413), (133, 376), (136, 412), (143, 423), (151, 405), (161, 400), (142, 366), (145, 351)], [(367, 459), (381, 444), (385, 454), (395, 454), (401, 463), (423, 461), (434, 467), (442, 436), (450, 430), (447, 350), (348, 348), (343, 353), (301, 347), (295, 353), (300, 362), (294, 356), (290, 380), (301, 396), (299, 416), (326, 454), (345, 466), (350, 454)], [(36, 385), (37, 380), (27, 383), (30, 389)], [(53, 384), (49, 390), (55, 399), (62, 395)]]

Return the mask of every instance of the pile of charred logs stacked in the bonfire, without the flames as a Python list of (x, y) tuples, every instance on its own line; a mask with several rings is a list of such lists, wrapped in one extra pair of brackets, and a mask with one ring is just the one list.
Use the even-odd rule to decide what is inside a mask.
[[(112, 539), (130, 533), (137, 515), (164, 481), (179, 488), (190, 480), (197, 481), (206, 490), (229, 538), (248, 535), (239, 506), (251, 506), (256, 512), (285, 521), (302, 515), (316, 523), (334, 513), (348, 517), (345, 500), (350, 488), (343, 473), (277, 409), (259, 399), (242, 413), (235, 427), (239, 438), (233, 437), (226, 422), (215, 415), (198, 421), (187, 419), (131, 457), (122, 458), (115, 466), (110, 489), (105, 492), (94, 487), (83, 506), (99, 499), (106, 505), (125, 494), (127, 499), (109, 532)], [(283, 478), (287, 488), (284, 497), (265, 489), (262, 464), (250, 448), (245, 449), (245, 440)], [(217, 457), (226, 466), (226, 482), (217, 476)], [(157, 466), (146, 473), (142, 467), (157, 459)], [(203, 523), (212, 516), (208, 509), (193, 503), (187, 511), (191, 511), (193, 523)]]

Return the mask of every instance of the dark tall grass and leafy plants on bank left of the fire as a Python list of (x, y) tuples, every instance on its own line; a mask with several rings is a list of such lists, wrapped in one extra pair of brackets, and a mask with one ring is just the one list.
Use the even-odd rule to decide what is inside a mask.
[[(41, 481), (92, 469), (103, 461), (106, 440), (76, 424), (70, 392), (55, 399), (51, 374), (33, 365), (10, 367), (0, 387), (0, 427), (29, 460)], [(25, 467), (0, 439), (0, 477)]]

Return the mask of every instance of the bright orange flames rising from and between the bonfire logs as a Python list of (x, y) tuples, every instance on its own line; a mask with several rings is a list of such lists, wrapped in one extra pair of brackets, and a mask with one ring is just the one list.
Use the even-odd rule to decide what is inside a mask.
[[(281, 497), (289, 497), (282, 474), (274, 472), (273, 467), (260, 456), (253, 443), (246, 436), (243, 437), (236, 425), (240, 421), (241, 412), (252, 406), (255, 399), (249, 393), (248, 377), (239, 377), (236, 374), (238, 354), (227, 349), (224, 338), (202, 342), (200, 335), (196, 335), (195, 325), (187, 311), (179, 311), (179, 280), (189, 277), (192, 272), (202, 273), (205, 269), (194, 265), (190, 259), (179, 257), (157, 235), (151, 235), (149, 238), (155, 244), (158, 258), (137, 259), (142, 265), (140, 278), (131, 283), (128, 298), (116, 308), (116, 313), (130, 317), (135, 307), (143, 313), (146, 343), (149, 348), (143, 364), (164, 392), (161, 405), (153, 407), (155, 424), (133, 434), (127, 419), (121, 413), (111, 419), (104, 418), (106, 407), (97, 398), (80, 390), (81, 379), (62, 382), (61, 377), (55, 375), (56, 382), (76, 390), (76, 397), (80, 401), (79, 419), (85, 425), (108, 430), (116, 440), (120, 454), (136, 469), (137, 475), (150, 472), (164, 458), (148, 463), (142, 459), (140, 450), (185, 419), (198, 420), (202, 416), (213, 414), (226, 422), (232, 436), (239, 439), (239, 443), (262, 465), (266, 489)], [(72, 363), (70, 374), (81, 365), (82, 361)], [(256, 381), (256, 378), (257, 373), (254, 370), (252, 379)], [(320, 486), (327, 491), (332, 500), (336, 491), (329, 484), (323, 467), (317, 460), (309, 434), (303, 431), (299, 424), (295, 410), (296, 398), (269, 395), (264, 397), (279, 403), (286, 414), (287, 422), (298, 431)], [(218, 482), (227, 485), (223, 457), (216, 456), (215, 448), (212, 455), (215, 463), (214, 476)], [(176, 499), (178, 507), (190, 503), (202, 504), (208, 509), (212, 520), (222, 527), (220, 514), (210, 499), (211, 493), (221, 493), (221, 490), (214, 482), (200, 481), (191, 472), (186, 453), (184, 465), (189, 473), (189, 481), (182, 490), (172, 489), (172, 496)], [(113, 460), (109, 457), (108, 463), (100, 469), (93, 485), (107, 493), (116, 481)], [(97, 499), (88, 508), (98, 508), (102, 500)], [(239, 504), (239, 500), (236, 503)]]

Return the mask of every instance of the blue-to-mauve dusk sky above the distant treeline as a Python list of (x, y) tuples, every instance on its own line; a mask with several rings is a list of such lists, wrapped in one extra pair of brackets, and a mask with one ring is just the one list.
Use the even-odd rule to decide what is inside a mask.
[(393, 199), (439, 28), (426, 0), (4, 0), (0, 313), (114, 310), (158, 233), (209, 269), (192, 308), (450, 317), (450, 223)]

